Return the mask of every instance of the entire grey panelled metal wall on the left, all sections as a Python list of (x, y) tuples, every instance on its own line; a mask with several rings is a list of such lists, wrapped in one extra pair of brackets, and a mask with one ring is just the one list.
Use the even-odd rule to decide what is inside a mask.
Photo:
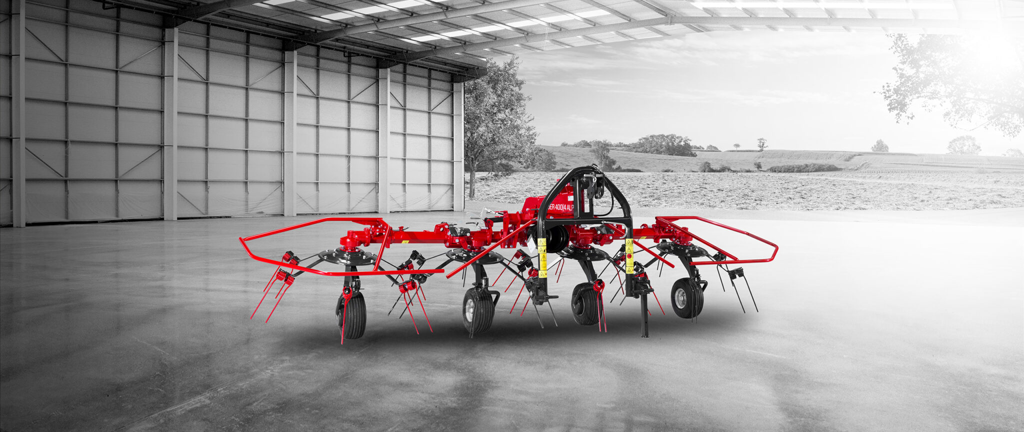
[[(9, 17), (10, 3), (0, 7)], [(26, 12), (28, 223), (160, 218), (172, 205), (172, 219), (284, 214), (290, 119), (296, 213), (461, 205), (461, 104), (454, 101), (461, 85), (449, 74), (399, 66), (388, 77), (369, 58), (305, 47), (295, 55), (292, 114), (292, 54), (280, 40), (188, 23), (178, 28), (176, 45), (165, 45), (159, 15), (93, 1), (33, 0)], [(5, 36), (11, 21), (0, 23)], [(9, 40), (0, 44), (3, 225), (16, 208)], [(169, 46), (177, 47), (177, 81), (164, 79)], [(176, 127), (165, 126), (175, 124), (165, 123), (165, 81), (176, 83)], [(381, 119), (388, 106), (390, 117)], [(386, 160), (382, 127), (390, 131)], [(167, 136), (175, 137), (173, 158), (164, 149), (174, 144)], [(177, 161), (176, 203), (163, 197), (164, 179), (174, 178), (165, 159)], [(381, 178), (390, 179), (386, 201)]]

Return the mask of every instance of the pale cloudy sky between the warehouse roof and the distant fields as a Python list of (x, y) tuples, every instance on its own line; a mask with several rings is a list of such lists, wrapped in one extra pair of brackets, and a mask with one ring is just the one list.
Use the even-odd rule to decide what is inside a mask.
[(982, 155), (1024, 149), (1024, 136), (953, 128), (939, 111), (896, 123), (879, 94), (895, 80), (890, 45), (883, 34), (711, 32), (524, 54), (519, 77), (543, 145), (675, 133), (722, 149), (764, 137), (768, 148), (866, 152), (883, 139), (944, 154), (970, 134)]

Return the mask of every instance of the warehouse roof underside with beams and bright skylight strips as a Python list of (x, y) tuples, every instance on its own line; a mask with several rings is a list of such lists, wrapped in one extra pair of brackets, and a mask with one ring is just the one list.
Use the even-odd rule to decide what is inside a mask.
[[(465, 72), (485, 57), (711, 31), (1020, 30), (1024, 0), (97, 0)], [(472, 73), (470, 73), (472, 75)]]

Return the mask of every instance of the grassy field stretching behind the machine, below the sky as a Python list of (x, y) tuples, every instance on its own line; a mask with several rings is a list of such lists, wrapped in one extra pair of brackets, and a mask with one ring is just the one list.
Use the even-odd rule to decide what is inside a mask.
[[(589, 148), (551, 147), (558, 172), (484, 176), (476, 200), (522, 203), (547, 193), (570, 167), (590, 165)], [(624, 168), (613, 181), (631, 205), (652, 208), (735, 210), (968, 210), (1024, 207), (1024, 158), (853, 152), (700, 152), (696, 158), (612, 152)], [(774, 174), (697, 173), (714, 167), (752, 170), (775, 165), (827, 163), (836, 172)], [(672, 169), (674, 172), (662, 172)]]

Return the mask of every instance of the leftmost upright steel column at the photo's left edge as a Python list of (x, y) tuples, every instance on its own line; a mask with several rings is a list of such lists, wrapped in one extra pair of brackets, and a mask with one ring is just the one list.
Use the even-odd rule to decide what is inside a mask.
[(26, 222), (25, 200), (25, 0), (11, 2), (10, 24), (10, 122), (11, 122), (11, 211), (14, 226)]

